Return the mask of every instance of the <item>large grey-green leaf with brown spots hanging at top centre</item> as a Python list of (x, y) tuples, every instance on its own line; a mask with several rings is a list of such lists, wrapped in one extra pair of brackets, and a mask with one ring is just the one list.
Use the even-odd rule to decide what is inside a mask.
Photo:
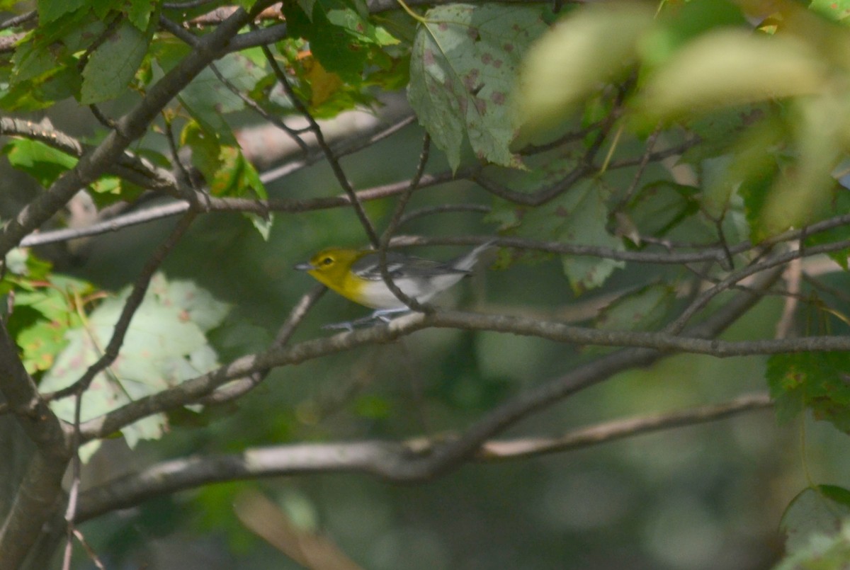
[(541, 14), (499, 4), (450, 4), (425, 14), (407, 97), (453, 170), (464, 141), (481, 160), (520, 165), (509, 149), (518, 127), (513, 85), (530, 42), (546, 30)]

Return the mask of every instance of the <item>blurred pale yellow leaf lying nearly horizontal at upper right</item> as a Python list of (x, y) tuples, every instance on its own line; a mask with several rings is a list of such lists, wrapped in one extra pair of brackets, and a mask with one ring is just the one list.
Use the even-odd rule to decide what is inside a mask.
[(819, 93), (827, 68), (793, 37), (717, 30), (685, 45), (647, 77), (637, 106), (647, 124), (704, 110)]

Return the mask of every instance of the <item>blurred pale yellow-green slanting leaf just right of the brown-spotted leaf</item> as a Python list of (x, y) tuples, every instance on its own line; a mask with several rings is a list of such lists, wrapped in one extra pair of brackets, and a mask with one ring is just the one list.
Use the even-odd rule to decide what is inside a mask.
[(527, 136), (562, 124), (582, 100), (624, 71), (652, 21), (652, 8), (642, 3), (588, 5), (536, 42), (523, 63), (517, 96)]

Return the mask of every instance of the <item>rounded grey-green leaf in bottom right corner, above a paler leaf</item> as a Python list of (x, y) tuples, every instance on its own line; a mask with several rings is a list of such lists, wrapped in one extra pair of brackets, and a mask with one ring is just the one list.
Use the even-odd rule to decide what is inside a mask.
[(803, 489), (791, 499), (779, 529), (785, 533), (785, 551), (808, 545), (814, 534), (834, 536), (850, 518), (850, 491), (835, 485)]

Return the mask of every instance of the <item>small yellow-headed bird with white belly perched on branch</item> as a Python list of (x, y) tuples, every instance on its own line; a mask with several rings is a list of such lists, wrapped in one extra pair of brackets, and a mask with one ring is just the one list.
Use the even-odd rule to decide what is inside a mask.
[[(428, 302), (439, 292), (472, 274), (475, 262), (491, 244), (488, 241), (445, 263), (388, 251), (387, 272), (406, 296), (417, 302)], [(377, 251), (331, 247), (315, 254), (309, 262), (298, 263), (295, 268), (306, 271), (347, 299), (377, 309), (367, 320), (386, 321), (388, 314), (409, 310), (384, 283)]]

